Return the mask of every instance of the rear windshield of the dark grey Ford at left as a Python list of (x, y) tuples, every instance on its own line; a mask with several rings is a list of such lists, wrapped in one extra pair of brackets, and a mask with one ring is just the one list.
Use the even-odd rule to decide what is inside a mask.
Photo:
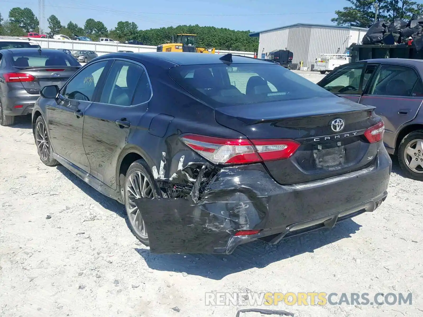
[(80, 63), (69, 54), (62, 51), (55, 52), (19, 52), (12, 53), (14, 66), (80, 66)]

